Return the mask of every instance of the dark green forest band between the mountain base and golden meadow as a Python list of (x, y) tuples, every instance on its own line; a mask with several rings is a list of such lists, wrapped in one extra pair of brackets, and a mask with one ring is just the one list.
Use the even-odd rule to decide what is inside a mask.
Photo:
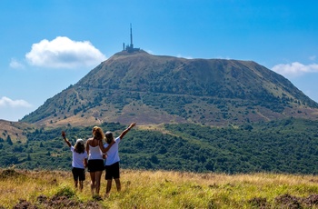
[[(100, 125), (118, 136), (126, 126)], [(138, 126), (119, 145), (121, 167), (186, 172), (318, 174), (318, 122), (289, 118), (241, 126), (211, 127), (164, 124), (154, 130)], [(27, 142), (0, 136), (1, 167), (39, 170), (71, 169), (72, 153), (61, 137), (75, 144), (86, 140), (92, 126), (36, 129)]]

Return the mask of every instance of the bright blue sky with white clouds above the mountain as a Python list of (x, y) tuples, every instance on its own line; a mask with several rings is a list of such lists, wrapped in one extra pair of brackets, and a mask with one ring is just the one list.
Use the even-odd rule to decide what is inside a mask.
[(318, 102), (316, 0), (0, 0), (0, 119), (18, 121), (129, 44), (254, 61)]

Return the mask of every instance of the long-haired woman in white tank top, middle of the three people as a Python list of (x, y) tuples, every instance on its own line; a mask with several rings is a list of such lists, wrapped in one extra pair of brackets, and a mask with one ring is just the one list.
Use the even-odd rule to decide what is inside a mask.
[(101, 199), (99, 196), (99, 190), (101, 187), (101, 176), (104, 171), (104, 156), (100, 149), (100, 144), (103, 144), (104, 139), (104, 132), (102, 128), (94, 126), (93, 136), (93, 138), (89, 138), (87, 140), (86, 144), (86, 152), (88, 154), (87, 171), (91, 176), (92, 196), (93, 198)]

